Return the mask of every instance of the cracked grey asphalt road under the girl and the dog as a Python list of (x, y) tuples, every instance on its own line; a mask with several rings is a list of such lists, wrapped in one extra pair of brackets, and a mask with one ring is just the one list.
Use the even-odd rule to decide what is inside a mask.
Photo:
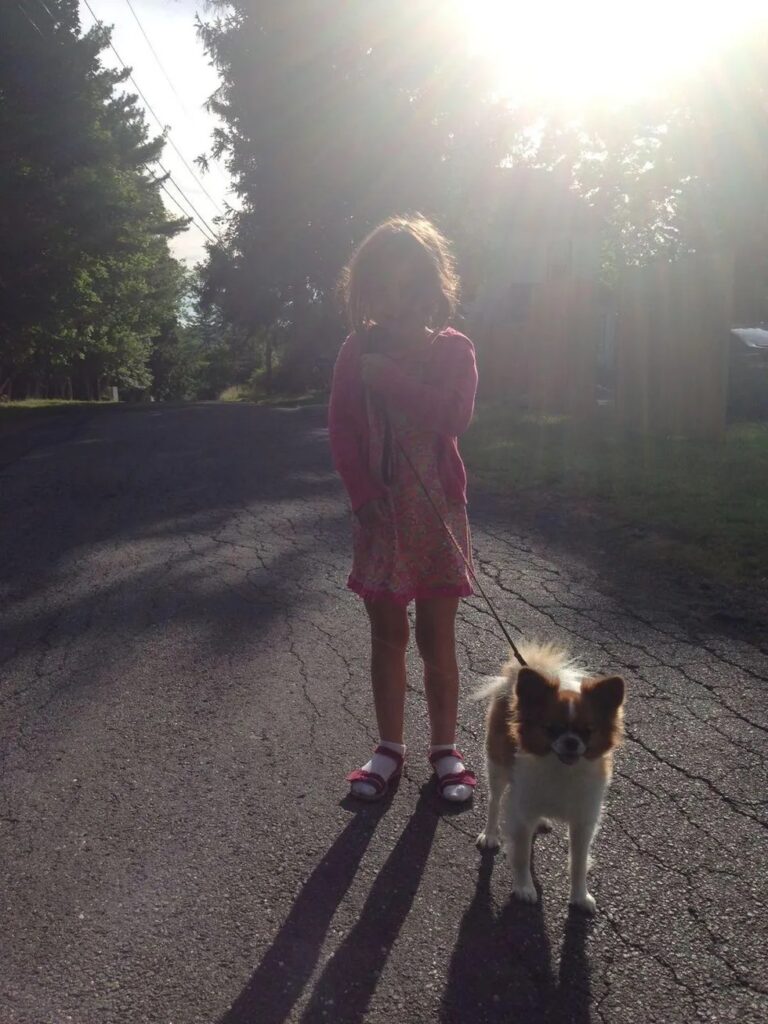
[[(764, 1022), (766, 645), (473, 503), (514, 629), (630, 687), (597, 915), (559, 831), (511, 902), (484, 794), (434, 796), (416, 660), (398, 793), (345, 798), (374, 732), (324, 423), (158, 406), (0, 442), (0, 1024)], [(479, 768), (467, 695), (506, 651), (460, 615)]]

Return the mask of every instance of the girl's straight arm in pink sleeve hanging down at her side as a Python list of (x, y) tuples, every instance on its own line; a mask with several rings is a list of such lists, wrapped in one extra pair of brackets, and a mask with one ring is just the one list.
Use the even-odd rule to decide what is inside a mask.
[(362, 451), (368, 422), (358, 358), (352, 345), (352, 339), (347, 338), (334, 367), (328, 432), (334, 466), (347, 489), (352, 511), (356, 512), (368, 502), (382, 497), (383, 490), (371, 476), (367, 454)]

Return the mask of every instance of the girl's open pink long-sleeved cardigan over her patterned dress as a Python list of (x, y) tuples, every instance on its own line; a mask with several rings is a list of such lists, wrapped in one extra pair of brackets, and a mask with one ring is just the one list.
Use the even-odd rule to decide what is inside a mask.
[[(336, 360), (328, 418), (334, 466), (355, 512), (385, 493), (368, 465), (370, 430), (360, 378), (361, 351), (359, 338), (350, 334)], [(434, 430), (445, 495), (466, 504), (467, 472), (457, 437), (469, 426), (477, 390), (475, 350), (469, 338), (446, 328), (432, 342), (424, 383), (412, 380), (392, 361), (377, 390), (414, 423)]]

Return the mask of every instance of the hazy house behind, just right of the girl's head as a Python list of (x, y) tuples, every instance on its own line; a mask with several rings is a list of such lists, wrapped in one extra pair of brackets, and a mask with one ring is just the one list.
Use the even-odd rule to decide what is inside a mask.
[(498, 170), (473, 212), (490, 240), (468, 309), (483, 391), (547, 410), (594, 403), (599, 216), (562, 176), (530, 168)]

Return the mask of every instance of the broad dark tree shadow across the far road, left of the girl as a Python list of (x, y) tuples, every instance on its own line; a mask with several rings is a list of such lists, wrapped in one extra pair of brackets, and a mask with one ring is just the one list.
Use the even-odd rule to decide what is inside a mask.
[[(234, 512), (331, 498), (323, 409), (153, 407), (51, 426), (0, 487), (6, 587), (41, 591), (98, 545), (210, 534)], [(8, 440), (0, 439), (0, 466)], [(24, 515), (19, 510), (24, 509)]]

